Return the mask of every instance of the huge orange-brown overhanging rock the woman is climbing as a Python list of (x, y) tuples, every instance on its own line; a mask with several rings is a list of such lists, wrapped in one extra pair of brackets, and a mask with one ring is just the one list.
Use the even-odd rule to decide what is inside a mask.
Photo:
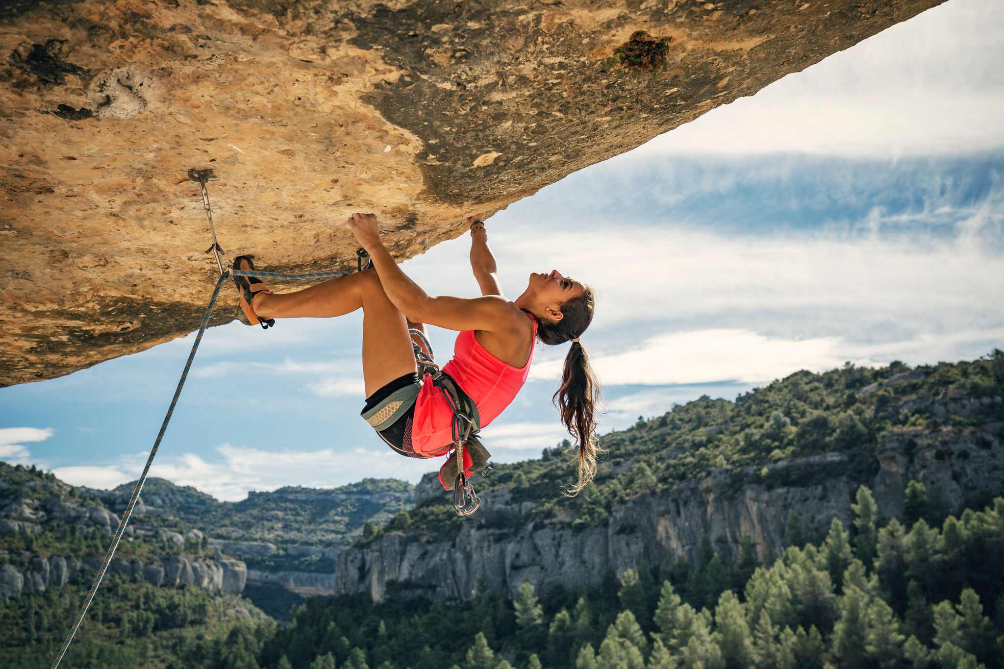
[(216, 269), (191, 168), (218, 175), (231, 257), (343, 269), (337, 224), (372, 211), (408, 258), (940, 2), (8, 3), (0, 384), (197, 327)]

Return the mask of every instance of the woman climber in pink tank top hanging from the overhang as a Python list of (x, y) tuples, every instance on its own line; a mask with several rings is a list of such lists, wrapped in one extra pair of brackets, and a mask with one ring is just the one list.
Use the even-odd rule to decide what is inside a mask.
[[(480, 426), (488, 425), (512, 402), (526, 382), (534, 341), (551, 346), (571, 340), (565, 356), (561, 386), (554, 402), (561, 421), (578, 443), (578, 481), (581, 489), (596, 470), (595, 404), (599, 386), (578, 337), (592, 320), (592, 289), (563, 277), (556, 270), (531, 274), (529, 285), (515, 301), (506, 299), (499, 285), (495, 258), (488, 248), (482, 217), (471, 217), (471, 268), (482, 297), (431, 297), (401, 270), (381, 242), (376, 218), (354, 214), (348, 227), (369, 254), (372, 267), (357, 274), (277, 294), (259, 279), (235, 276), (245, 322), (257, 324), (279, 318), (330, 318), (362, 309), (362, 375), (366, 403), (362, 417), (402, 455), (445, 455), (453, 445), (453, 410), (444, 393), (429, 377), (417, 372), (409, 329), (425, 332), (425, 323), (460, 334), (453, 359), (443, 366), (474, 401)], [(253, 270), (251, 259), (240, 256), (234, 268)], [(244, 320), (244, 319), (242, 319)], [(471, 456), (465, 448), (464, 468), (487, 459)], [(451, 480), (440, 480), (450, 488)]]

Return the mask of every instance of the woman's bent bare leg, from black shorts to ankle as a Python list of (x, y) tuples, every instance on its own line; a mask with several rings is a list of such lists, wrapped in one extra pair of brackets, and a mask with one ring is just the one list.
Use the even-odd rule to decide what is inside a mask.
[(375, 270), (338, 277), (294, 293), (259, 295), (252, 306), (263, 319), (326, 318), (361, 307), (366, 397), (396, 378), (417, 371), (408, 321), (388, 299)]

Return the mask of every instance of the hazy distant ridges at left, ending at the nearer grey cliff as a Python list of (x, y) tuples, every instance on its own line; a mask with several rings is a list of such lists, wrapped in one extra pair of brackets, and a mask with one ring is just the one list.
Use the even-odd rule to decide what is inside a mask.
[[(100, 565), (134, 486), (74, 487), (34, 467), (0, 462), (0, 599), (86, 580)], [(249, 582), (279, 584), (300, 595), (331, 594), (338, 552), (360, 536), (366, 521), (382, 523), (411, 507), (413, 488), (400, 480), (364, 479), (221, 503), (152, 478), (108, 574), (233, 595)]]

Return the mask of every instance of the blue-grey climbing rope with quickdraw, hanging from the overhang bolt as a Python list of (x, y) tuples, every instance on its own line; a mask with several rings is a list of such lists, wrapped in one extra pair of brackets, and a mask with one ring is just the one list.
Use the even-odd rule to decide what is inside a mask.
[[(275, 274), (273, 272), (252, 272), (250, 270), (232, 270), (225, 269), (223, 265), (223, 255), (224, 251), (220, 247), (216, 240), (216, 228), (213, 226), (213, 209), (209, 204), (209, 192), (206, 190), (206, 182), (210, 179), (214, 179), (212, 170), (190, 170), (189, 179), (193, 182), (199, 183), (199, 188), (202, 191), (202, 202), (203, 208), (206, 212), (206, 218), (209, 220), (209, 229), (213, 236), (213, 246), (211, 246), (206, 253), (213, 252), (216, 257), (216, 265), (220, 270), (220, 278), (216, 282), (216, 287), (213, 289), (213, 296), (209, 300), (209, 306), (206, 307), (206, 313), (202, 317), (202, 323), (199, 326), (199, 334), (196, 335), (195, 342), (192, 344), (192, 350), (189, 352), (188, 361), (185, 363), (185, 369), (182, 371), (182, 377), (178, 381), (178, 387), (175, 388), (175, 396), (171, 400), (171, 405), (168, 407), (168, 413), (164, 416), (164, 422), (161, 423), (161, 431), (157, 434), (157, 439), (154, 440), (154, 447), (150, 450), (150, 457), (147, 458), (147, 464), (143, 468), (143, 473), (140, 474), (140, 479), (136, 483), (136, 488), (133, 490), (133, 496), (130, 497), (129, 505), (126, 507), (126, 512), (122, 514), (121, 523), (118, 524), (118, 529), (115, 531), (114, 537), (111, 538), (111, 545), (108, 546), (108, 551), (104, 555), (104, 560), (101, 562), (100, 567), (97, 570), (97, 576), (94, 578), (94, 583), (90, 586), (90, 590), (87, 592), (87, 596), (83, 600), (83, 605), (80, 607), (80, 612), (76, 615), (73, 620), (73, 624), (70, 626), (69, 633), (66, 635), (65, 641), (63, 641), (62, 646), (59, 648), (59, 652), (56, 654), (55, 660), (52, 662), (51, 669), (56, 669), (59, 663), (62, 661), (63, 656), (66, 654), (66, 650), (69, 645), (73, 642), (73, 636), (76, 631), (80, 628), (80, 623), (83, 622), (83, 617), (87, 613), (87, 609), (90, 608), (90, 603), (94, 599), (94, 595), (97, 593), (98, 587), (101, 585), (101, 580), (104, 578), (104, 574), (107, 572), (108, 567), (111, 564), (111, 559), (115, 554), (115, 549), (118, 548), (118, 542), (121, 541), (122, 535), (126, 533), (126, 526), (129, 525), (130, 519), (133, 518), (133, 509), (136, 507), (136, 503), (140, 499), (140, 492), (143, 491), (143, 484), (147, 481), (147, 474), (150, 473), (150, 467), (154, 463), (154, 457), (157, 455), (157, 450), (161, 447), (161, 440), (164, 439), (164, 433), (168, 429), (168, 423), (171, 422), (171, 416), (175, 412), (175, 406), (178, 404), (178, 398), (181, 397), (182, 388), (185, 386), (185, 379), (188, 378), (189, 370), (192, 368), (192, 361), (195, 360), (196, 351), (199, 350), (199, 344), (202, 342), (202, 336), (206, 333), (206, 328), (209, 326), (210, 317), (213, 315), (213, 309), (216, 307), (217, 298), (220, 296), (220, 289), (223, 288), (223, 283), (230, 279), (234, 275), (240, 275), (245, 277), (258, 277), (259, 279), (277, 279), (277, 280), (288, 280), (295, 281), (300, 279), (332, 279), (335, 277), (343, 277), (351, 274), (351, 272), (311, 272), (309, 274)], [(359, 268), (362, 268), (362, 257), (359, 256)]]

